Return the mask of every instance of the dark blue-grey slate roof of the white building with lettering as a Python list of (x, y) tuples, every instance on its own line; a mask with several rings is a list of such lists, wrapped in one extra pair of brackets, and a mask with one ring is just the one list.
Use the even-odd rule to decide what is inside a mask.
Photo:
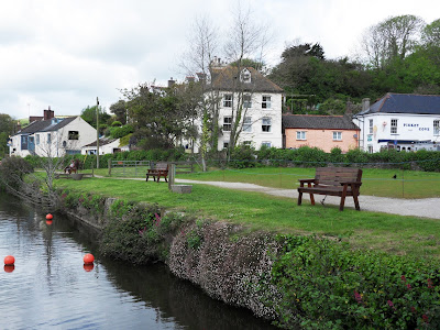
[(440, 114), (440, 96), (388, 92), (359, 114), (369, 113)]

